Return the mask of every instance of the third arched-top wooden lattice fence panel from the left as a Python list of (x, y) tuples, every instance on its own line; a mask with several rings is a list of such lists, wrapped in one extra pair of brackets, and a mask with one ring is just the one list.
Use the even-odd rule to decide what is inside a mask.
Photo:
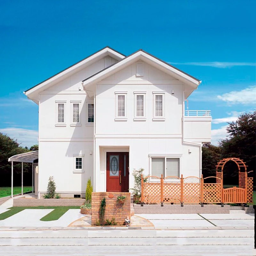
[(183, 203), (199, 204), (201, 197), (200, 178), (187, 177), (183, 179)]

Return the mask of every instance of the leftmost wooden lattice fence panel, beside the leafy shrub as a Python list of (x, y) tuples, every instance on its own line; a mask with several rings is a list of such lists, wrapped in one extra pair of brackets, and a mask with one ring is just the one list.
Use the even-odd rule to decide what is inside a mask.
[(144, 188), (144, 203), (161, 203), (161, 183), (145, 182)]

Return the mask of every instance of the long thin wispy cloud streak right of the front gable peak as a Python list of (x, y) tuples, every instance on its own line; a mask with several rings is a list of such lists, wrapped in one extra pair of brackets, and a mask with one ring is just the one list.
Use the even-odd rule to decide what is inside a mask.
[(191, 65), (191, 66), (204, 66), (204, 67), (213, 67), (213, 68), (232, 68), (237, 66), (256, 66), (254, 62), (168, 62), (173, 65)]

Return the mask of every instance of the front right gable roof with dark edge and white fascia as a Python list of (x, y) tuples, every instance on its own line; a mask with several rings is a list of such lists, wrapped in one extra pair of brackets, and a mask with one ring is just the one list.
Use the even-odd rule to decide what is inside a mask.
[(155, 64), (157, 64), (158, 66), (162, 67), (165, 69), (165, 71), (167, 73), (169, 73), (170, 75), (174, 76), (175, 78), (179, 79), (179, 80), (183, 80), (186, 81), (189, 84), (192, 84), (194, 86), (198, 86), (201, 81), (199, 79), (197, 79), (194, 76), (191, 76), (187, 73), (185, 73), (184, 71), (170, 65), (169, 63), (160, 60), (158, 58), (156, 58), (155, 56), (153, 56), (152, 54), (145, 52), (144, 50), (140, 49), (137, 52), (132, 53), (129, 56), (126, 56), (125, 58), (123, 58), (122, 60), (120, 60), (119, 62), (102, 69), (101, 71), (93, 74), (92, 76), (87, 77), (86, 79), (84, 79), (82, 81), (83, 86), (85, 87), (88, 84), (91, 84), (93, 82), (97, 82), (98, 80), (102, 80), (107, 76), (112, 75), (113, 73), (115, 73), (117, 71), (117, 69), (119, 70), (119, 68), (121, 68), (122, 66), (124, 66), (127, 63), (130, 62), (134, 62), (137, 59), (145, 59), (145, 60), (149, 60), (154, 62)]

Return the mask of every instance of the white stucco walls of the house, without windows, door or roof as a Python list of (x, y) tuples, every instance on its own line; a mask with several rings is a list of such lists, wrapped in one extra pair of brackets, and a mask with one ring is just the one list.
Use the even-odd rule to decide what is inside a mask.
[[(112, 61), (115, 60), (112, 59)], [(84, 193), (88, 178), (92, 179), (95, 191), (106, 191), (106, 152), (108, 150), (129, 152), (129, 188), (133, 187), (133, 168), (142, 167), (145, 169), (145, 174), (150, 174), (151, 155), (179, 157), (180, 173), (183, 176), (199, 177), (201, 138), (203, 136), (209, 139), (210, 122), (197, 123), (199, 125), (196, 124), (196, 126), (193, 121), (192, 123), (184, 122), (185, 138), (188, 141), (197, 142), (198, 145), (182, 143), (185, 85), (146, 62), (144, 62), (144, 76), (135, 75), (136, 63), (133, 63), (100, 81), (94, 87), (96, 94), (94, 145), (94, 126), (86, 123), (86, 103), (93, 102), (93, 97), (86, 96), (81, 81), (102, 68), (104, 68), (104, 58), (40, 92), (39, 192), (46, 191), (49, 176), (55, 178), (57, 193), (69, 193), (71, 196)], [(127, 120), (115, 121), (115, 92), (122, 91), (126, 92)], [(145, 121), (133, 120), (134, 92), (145, 92)], [(152, 120), (153, 92), (164, 93), (164, 121)], [(66, 101), (66, 126), (55, 126), (56, 100)], [(72, 100), (80, 101), (80, 126), (70, 125), (72, 123), (70, 101)], [(191, 153), (188, 153), (188, 150)], [(83, 155), (83, 173), (73, 173), (74, 155), (78, 154)]]

